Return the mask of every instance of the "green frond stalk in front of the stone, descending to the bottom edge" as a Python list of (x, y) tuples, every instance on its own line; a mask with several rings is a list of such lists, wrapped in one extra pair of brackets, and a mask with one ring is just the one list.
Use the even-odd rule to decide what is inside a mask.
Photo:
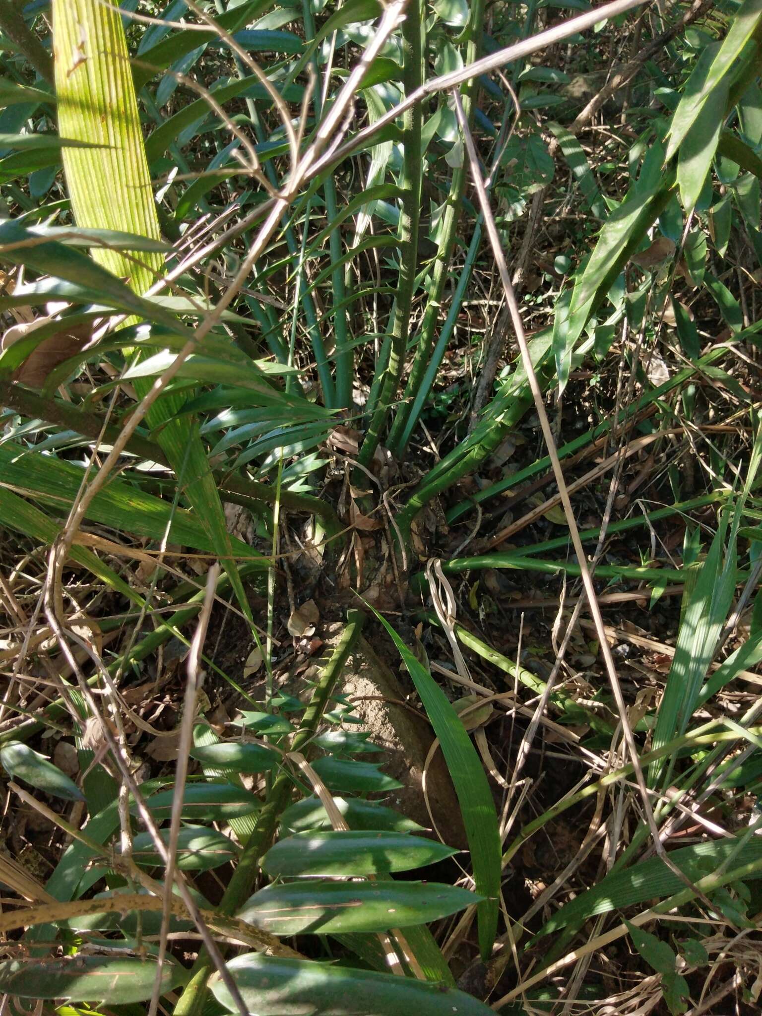
[[(347, 613), (341, 638), (320, 674), (312, 700), (305, 710), (302, 725), (292, 739), (291, 751), (302, 751), (315, 733), (341, 676), (343, 665), (360, 638), (365, 620), (366, 616), (361, 611)], [(285, 770), (274, 780), (267, 802), (257, 816), (254, 831), (243, 849), (233, 878), (217, 906), (218, 913), (228, 916), (234, 914), (249, 897), (259, 874), (260, 862), (275, 835), (280, 814), (289, 804), (293, 785), (292, 778)], [(209, 957), (205, 950), (202, 950), (193, 966), (190, 980), (175, 1006), (175, 1016), (201, 1016), (206, 1000), (206, 981), (212, 969)]]

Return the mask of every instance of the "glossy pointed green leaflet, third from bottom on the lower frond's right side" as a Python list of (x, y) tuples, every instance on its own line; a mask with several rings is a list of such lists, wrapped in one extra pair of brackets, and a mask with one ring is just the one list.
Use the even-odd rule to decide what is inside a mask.
[(405, 872), (451, 858), (443, 843), (404, 833), (367, 830), (298, 832), (280, 839), (265, 854), (268, 875), (378, 875)]

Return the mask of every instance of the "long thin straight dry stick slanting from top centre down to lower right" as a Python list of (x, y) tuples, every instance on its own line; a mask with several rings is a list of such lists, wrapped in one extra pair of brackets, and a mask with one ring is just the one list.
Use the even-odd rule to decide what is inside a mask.
[[(511, 280), (508, 275), (508, 266), (505, 262), (505, 255), (503, 254), (503, 249), (500, 244), (500, 236), (495, 225), (495, 217), (492, 213), (492, 208), (490, 207), (490, 201), (487, 196), (487, 191), (485, 190), (484, 179), (482, 178), (482, 173), (479, 168), (479, 156), (477, 154), (477, 149), (473, 144), (473, 138), (468, 130), (468, 124), (463, 113), (463, 107), (460, 102), (460, 96), (457, 90), (452, 92), (455, 102), (455, 112), (457, 114), (457, 119), (460, 124), (460, 129), (463, 133), (463, 138), (465, 140), (465, 147), (468, 152), (468, 162), (470, 164), (471, 176), (473, 178), (473, 184), (477, 189), (477, 194), (479, 196), (479, 203), (482, 208), (482, 212), (485, 218), (485, 227), (487, 229), (487, 235), (490, 238), (490, 243), (492, 246), (492, 251), (495, 256), (495, 261), (500, 272), (500, 277), (503, 283), (503, 289), (505, 290), (505, 300), (508, 309), (511, 313), (511, 319), (513, 321), (513, 327), (516, 331), (516, 340), (518, 342), (519, 350), (521, 352), (521, 360), (526, 372), (526, 379), (529, 384), (529, 389), (532, 393), (532, 398), (534, 399), (534, 406), (539, 418), (539, 425), (543, 431), (543, 436), (548, 447), (548, 454), (551, 458), (551, 463), (553, 465), (553, 471), (556, 477), (556, 483), (558, 484), (559, 493), (561, 495), (561, 501), (564, 506), (564, 514), (566, 515), (567, 525), (569, 526), (569, 535), (571, 536), (572, 544), (574, 546), (574, 553), (579, 562), (579, 569), (582, 578), (582, 584), (584, 586), (585, 594), (587, 596), (587, 601), (590, 608), (590, 614), (592, 615), (592, 620), (595, 624), (595, 629), (597, 632), (598, 640), (600, 643), (600, 651), (604, 656), (604, 662), (606, 664), (607, 674), (609, 676), (609, 681), (612, 687), (612, 692), (614, 693), (614, 699), (617, 704), (617, 711), (619, 713), (620, 721), (622, 723), (622, 732), (624, 735), (625, 744), (627, 746), (627, 751), (632, 761), (633, 770), (635, 773), (635, 778), (637, 780), (638, 788), (640, 790), (641, 803), (643, 807), (643, 812), (646, 816), (646, 821), (650, 829), (650, 833), (653, 839), (654, 846), (664, 862), (665, 865), (675, 873), (675, 875), (683, 882), (692, 892), (696, 892), (693, 883), (688, 879), (688, 877), (674, 864), (674, 862), (668, 855), (664, 845), (659, 839), (658, 827), (653, 818), (653, 811), (651, 810), (651, 804), (648, 798), (648, 788), (646, 787), (645, 778), (643, 777), (643, 770), (640, 766), (640, 759), (638, 757), (638, 749), (635, 744), (635, 737), (632, 733), (632, 727), (630, 726), (627, 717), (627, 703), (625, 702), (624, 695), (622, 694), (622, 687), (619, 683), (619, 677), (617, 675), (617, 666), (614, 661), (614, 656), (612, 654), (611, 647), (606, 639), (605, 623), (604, 618), (600, 613), (600, 608), (598, 607), (597, 599), (595, 597), (595, 587), (592, 584), (592, 578), (590, 577), (590, 571), (587, 567), (587, 559), (585, 557), (584, 549), (582, 547), (582, 542), (579, 538), (579, 529), (577, 528), (577, 522), (574, 517), (574, 510), (569, 500), (569, 493), (564, 481), (564, 472), (561, 468), (561, 462), (558, 457), (558, 451), (556, 449), (556, 443), (553, 439), (553, 432), (551, 431), (550, 421), (548, 420), (548, 414), (545, 408), (545, 401), (543, 398), (543, 392), (537, 382), (536, 374), (534, 373), (534, 366), (531, 362), (531, 355), (529, 353), (528, 346), (526, 344), (526, 336), (524, 334), (523, 322), (521, 321), (521, 314), (516, 303), (516, 298), (513, 293), (513, 287), (511, 285)], [(708, 902), (708, 901), (707, 901)]]

